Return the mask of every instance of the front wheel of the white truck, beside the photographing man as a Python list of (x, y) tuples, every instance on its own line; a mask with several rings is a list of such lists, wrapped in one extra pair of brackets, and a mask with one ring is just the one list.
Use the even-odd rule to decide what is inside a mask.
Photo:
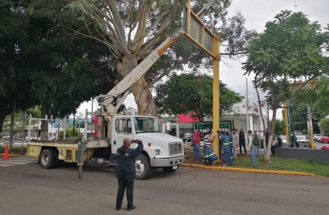
[(139, 154), (135, 158), (135, 169), (136, 169), (136, 174), (135, 174), (136, 179), (139, 180), (147, 179), (148, 177), (151, 176), (152, 173), (150, 159), (144, 154)]

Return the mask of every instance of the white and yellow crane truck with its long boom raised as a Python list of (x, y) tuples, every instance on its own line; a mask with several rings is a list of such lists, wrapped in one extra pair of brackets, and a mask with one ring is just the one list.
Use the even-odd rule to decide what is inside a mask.
[[(211, 0), (196, 15), (200, 16), (210, 8), (215, 8), (215, 0)], [(99, 165), (116, 165), (116, 151), (123, 144), (123, 139), (139, 139), (144, 144), (143, 152), (136, 157), (136, 179), (144, 180), (151, 175), (152, 169), (162, 168), (166, 172), (175, 172), (184, 161), (182, 140), (165, 134), (160, 121), (151, 116), (118, 116), (117, 110), (130, 89), (150, 67), (164, 54), (165, 50), (182, 34), (183, 28), (154, 49), (132, 71), (125, 76), (106, 95), (99, 95), (99, 104), (105, 107), (106, 113), (88, 112), (85, 114), (84, 130), (84, 162)], [(116, 106), (115, 98), (121, 96)], [(88, 116), (94, 116), (96, 123), (88, 125)], [(94, 137), (87, 133), (95, 131)], [(97, 136), (97, 137), (96, 137)], [(30, 138), (30, 137), (28, 137)], [(137, 143), (132, 147), (136, 148)], [(78, 144), (74, 141), (33, 141), (28, 140), (27, 156), (39, 157), (42, 168), (49, 169), (58, 165), (59, 160), (78, 161)]]

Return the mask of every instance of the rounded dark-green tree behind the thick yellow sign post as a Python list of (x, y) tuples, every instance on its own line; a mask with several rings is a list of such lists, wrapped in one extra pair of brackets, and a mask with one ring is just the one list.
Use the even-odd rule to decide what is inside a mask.
[[(220, 116), (237, 112), (234, 105), (244, 97), (221, 81), (219, 90)], [(192, 113), (192, 117), (200, 121), (213, 114), (213, 78), (209, 75), (174, 75), (163, 84), (158, 84), (155, 91), (155, 102), (160, 114)]]

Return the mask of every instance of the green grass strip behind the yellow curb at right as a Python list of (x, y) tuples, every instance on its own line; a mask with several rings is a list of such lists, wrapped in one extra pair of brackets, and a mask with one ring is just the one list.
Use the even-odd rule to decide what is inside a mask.
[(234, 161), (233, 167), (248, 168), (248, 169), (267, 169), (267, 170), (281, 170), (292, 172), (306, 172), (316, 175), (324, 175), (329, 177), (329, 164), (318, 164), (312, 161), (296, 160), (296, 159), (280, 159), (271, 157), (271, 163), (264, 163), (263, 156), (257, 156), (256, 166), (252, 166), (251, 158), (245, 156), (244, 159), (237, 159)]

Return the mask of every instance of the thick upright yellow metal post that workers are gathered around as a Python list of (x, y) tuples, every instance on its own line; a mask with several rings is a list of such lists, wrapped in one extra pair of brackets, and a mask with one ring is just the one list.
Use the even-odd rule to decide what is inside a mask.
[[(213, 48), (213, 53), (216, 58), (213, 58), (213, 132), (215, 137), (217, 137), (217, 130), (219, 130), (219, 44), (220, 44), (220, 36), (216, 35), (215, 43)], [(214, 152), (218, 155), (219, 158), (219, 144), (220, 141), (218, 138), (214, 140)], [(219, 161), (219, 159), (218, 159)]]

